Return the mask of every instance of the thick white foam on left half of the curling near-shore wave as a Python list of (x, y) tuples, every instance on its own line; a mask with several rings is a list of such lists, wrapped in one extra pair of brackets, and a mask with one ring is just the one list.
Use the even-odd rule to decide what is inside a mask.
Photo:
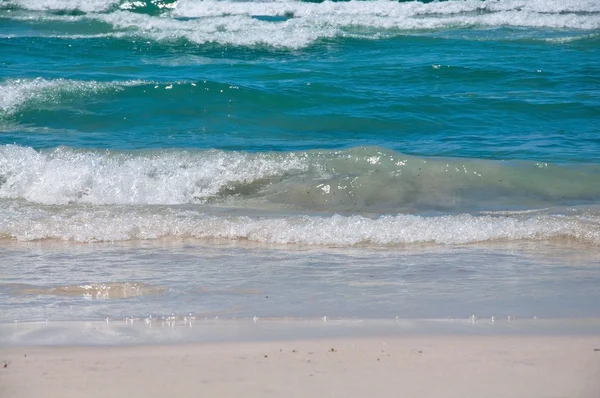
[(303, 155), (160, 152), (133, 156), (58, 148), (0, 147), (0, 198), (44, 204), (182, 204), (308, 167)]

